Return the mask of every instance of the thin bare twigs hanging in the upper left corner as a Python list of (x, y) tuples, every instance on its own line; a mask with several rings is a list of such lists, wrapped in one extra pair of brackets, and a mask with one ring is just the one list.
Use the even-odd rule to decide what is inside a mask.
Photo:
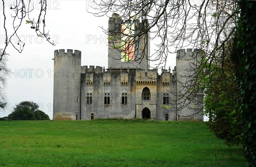
[[(11, 1), (10, 1), (11, 2)], [(40, 4), (41, 4), (41, 8), (39, 10), (39, 14), (37, 17), (37, 21), (35, 21), (34, 19), (30, 19), (29, 14), (34, 10), (34, 4), (33, 1), (28, 0), (15, 0), (12, 2), (9, 10), (6, 8), (5, 6), (5, 1), (2, 0), (3, 3), (3, 28), (5, 30), (5, 43), (3, 46), (3, 52), (0, 55), (0, 61), (3, 59), (3, 53), (5, 53), (6, 48), (9, 44), (11, 44), (13, 46), (13, 48), (15, 48), (19, 53), (21, 53), (23, 51), (25, 42), (22, 41), (18, 35), (18, 30), (20, 28), (20, 26), (22, 25), (22, 23), (24, 23), (24, 21), (26, 21), (26, 24), (31, 24), (31, 28), (35, 29), (35, 33), (37, 34), (38, 37), (43, 37), (46, 38), (46, 40), (54, 45), (54, 41), (50, 41), (50, 37), (49, 37), (49, 31), (45, 30), (45, 26), (46, 26), (46, 20), (45, 20), (45, 16), (46, 16), (46, 11), (47, 11), (47, 0), (40, 0)], [(28, 3), (28, 4), (26, 4)], [(6, 13), (7, 12), (11, 12), (11, 17), (12, 17), (12, 31), (6, 27)], [(26, 17), (28, 18), (28, 20), (25, 20)], [(14, 43), (12, 42), (12, 37), (17, 37), (18, 42)]]

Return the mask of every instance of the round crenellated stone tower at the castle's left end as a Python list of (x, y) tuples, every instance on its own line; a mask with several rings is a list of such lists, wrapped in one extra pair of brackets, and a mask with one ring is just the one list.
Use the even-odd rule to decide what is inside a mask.
[(80, 119), (81, 51), (54, 51), (53, 119)]

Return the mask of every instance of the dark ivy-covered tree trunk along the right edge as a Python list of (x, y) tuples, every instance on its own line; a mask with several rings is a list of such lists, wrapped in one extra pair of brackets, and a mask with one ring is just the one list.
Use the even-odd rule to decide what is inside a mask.
[(256, 167), (256, 1), (240, 0), (239, 7), (233, 59), (239, 66), (245, 157), (250, 167)]

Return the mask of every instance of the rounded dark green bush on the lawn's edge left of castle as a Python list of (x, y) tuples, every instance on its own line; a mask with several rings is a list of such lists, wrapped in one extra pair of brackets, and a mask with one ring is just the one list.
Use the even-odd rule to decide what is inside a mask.
[(23, 101), (17, 104), (8, 115), (12, 120), (49, 120), (49, 116), (41, 110), (39, 105), (32, 101)]

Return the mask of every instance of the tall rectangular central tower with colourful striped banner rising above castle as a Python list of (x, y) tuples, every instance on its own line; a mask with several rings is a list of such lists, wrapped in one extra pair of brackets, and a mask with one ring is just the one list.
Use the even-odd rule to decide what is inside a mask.
[(108, 68), (149, 69), (149, 32), (140, 34), (147, 20), (125, 20), (114, 13), (108, 20)]

